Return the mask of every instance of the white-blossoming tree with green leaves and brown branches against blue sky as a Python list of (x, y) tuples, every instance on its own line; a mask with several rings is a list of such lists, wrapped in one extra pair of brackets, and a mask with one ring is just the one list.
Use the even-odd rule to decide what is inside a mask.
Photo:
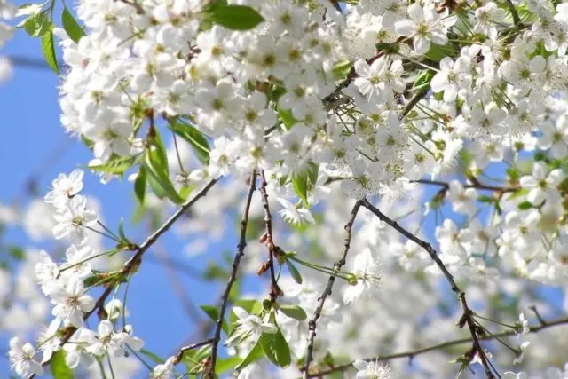
[[(1, 271), (51, 307), (10, 340), (13, 373), (568, 377), (566, 307), (546, 296), (568, 282), (568, 4), (74, 6), (0, 2), (0, 41), (41, 39), (61, 124), (92, 152), (37, 204), (57, 249)], [(132, 182), (146, 240), (102, 221), (82, 194), (97, 174)], [(212, 328), (157, 357), (130, 282), (171, 227), (234, 233), (227, 215)]]

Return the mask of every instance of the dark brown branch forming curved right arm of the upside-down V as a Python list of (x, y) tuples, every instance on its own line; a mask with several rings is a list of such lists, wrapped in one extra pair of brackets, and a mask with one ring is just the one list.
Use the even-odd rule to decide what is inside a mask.
[(410, 241), (413, 241), (418, 246), (422, 247), (422, 249), (425, 249), (428, 252), (428, 254), (430, 255), (430, 257), (432, 258), (432, 260), (436, 263), (436, 265), (438, 265), (438, 268), (440, 269), (440, 271), (442, 273), (444, 273), (444, 276), (446, 277), (447, 282), (450, 284), (452, 291), (454, 291), (454, 293), (458, 296), (458, 299), (460, 300), (461, 310), (462, 310), (463, 314), (461, 315), (461, 318), (459, 320), (458, 325), (459, 325), (460, 328), (463, 328), (466, 324), (468, 325), (469, 333), (471, 334), (471, 339), (472, 339), (472, 343), (473, 343), (470, 359), (473, 359), (475, 357), (475, 353), (477, 352), (477, 355), (479, 356), (479, 359), (481, 360), (481, 364), (484, 367), (485, 375), (487, 375), (487, 378), (493, 379), (495, 376), (493, 375), (493, 372), (491, 371), (490, 363), (489, 363), (489, 360), (487, 359), (487, 357), (485, 355), (485, 351), (483, 350), (481, 343), (479, 343), (479, 338), (477, 336), (476, 323), (475, 323), (475, 320), (473, 318), (473, 312), (471, 312), (471, 310), (469, 309), (468, 303), (466, 302), (465, 292), (463, 292), (458, 287), (458, 285), (455, 283), (454, 277), (447, 270), (446, 265), (444, 265), (444, 263), (438, 257), (438, 253), (436, 252), (436, 250), (432, 248), (432, 245), (430, 245), (430, 243), (423, 241), (420, 238), (416, 237), (413, 233), (408, 232), (405, 228), (398, 225), (398, 223), (396, 221), (394, 221), (394, 220), (390, 219), (389, 217), (387, 217), (386, 215), (384, 215), (383, 212), (381, 212), (380, 209), (375, 208), (375, 206), (373, 204), (371, 204), (369, 201), (367, 201), (367, 199), (363, 200), (362, 205), (365, 208), (369, 209), (373, 214), (375, 214), (376, 217), (379, 217), (379, 219), (381, 221), (383, 221), (387, 225), (390, 225), (390, 227), (395, 229), (398, 233), (401, 233), (407, 239), (409, 239)]

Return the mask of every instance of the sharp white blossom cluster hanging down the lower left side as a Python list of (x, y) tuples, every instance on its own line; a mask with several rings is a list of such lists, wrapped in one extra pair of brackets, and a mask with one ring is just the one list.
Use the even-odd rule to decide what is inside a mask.
[[(126, 346), (138, 351), (143, 345), (142, 340), (132, 336), (130, 325), (122, 325), (122, 329), (115, 330), (115, 322), (126, 312), (125, 305), (116, 299), (104, 306), (108, 317), (100, 321), (98, 332), (84, 326), (85, 315), (94, 312), (96, 306), (84, 280), (92, 273), (92, 259), (99, 255), (91, 249), (87, 239), (87, 228), (96, 225), (97, 214), (87, 208), (87, 199), (79, 194), (82, 189), (82, 170), (75, 170), (69, 175), (60, 174), (53, 180), (51, 192), (44, 197), (44, 201), (52, 206), (57, 222), (53, 235), (57, 240), (67, 239), (72, 244), (65, 251), (64, 263), (58, 265), (45, 251), (40, 251), (35, 266), (36, 280), (43, 295), (51, 299), (51, 314), (54, 316), (49, 327), (37, 339), (37, 347), (43, 353), (41, 363), (48, 362), (53, 353), (63, 346), (70, 368), (81, 362), (85, 367), (91, 366), (96, 357), (122, 357)], [(77, 328), (70, 338), (67, 337), (70, 343), (63, 344), (65, 336), (60, 332), (61, 327)], [(36, 360), (36, 349), (31, 343), (22, 343), (20, 337), (12, 338), (8, 355), (18, 375), (43, 374), (43, 367)]]

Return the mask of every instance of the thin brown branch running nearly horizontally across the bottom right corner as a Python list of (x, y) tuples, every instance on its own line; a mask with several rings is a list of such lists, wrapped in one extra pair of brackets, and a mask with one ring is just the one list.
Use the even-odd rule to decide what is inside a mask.
[[(552, 328), (552, 327), (556, 327), (556, 326), (559, 326), (559, 325), (565, 325), (565, 324), (568, 324), (568, 317), (548, 321), (548, 322), (545, 322), (544, 324), (540, 323), (539, 325), (536, 325), (534, 327), (530, 327), (529, 333), (538, 333), (542, 329)], [(490, 340), (493, 340), (495, 338), (506, 337), (506, 336), (514, 336), (514, 335), (517, 335), (517, 334), (518, 334), (517, 330), (508, 330), (506, 332), (495, 333), (493, 335), (480, 336), (480, 337), (478, 337), (478, 339), (484, 340), (484, 341), (490, 341)], [(370, 361), (385, 361), (385, 360), (398, 359), (398, 358), (413, 359), (415, 356), (424, 354), (426, 352), (438, 351), (440, 349), (446, 349), (448, 347), (452, 347), (452, 346), (455, 346), (455, 345), (458, 345), (458, 344), (472, 343), (472, 342), (473, 342), (473, 339), (471, 337), (460, 338), (460, 339), (456, 339), (456, 340), (452, 340), (452, 341), (446, 341), (446, 342), (443, 342), (443, 343), (433, 344), (431, 346), (428, 346), (428, 347), (425, 347), (425, 348), (422, 348), (422, 349), (418, 349), (418, 350), (414, 350), (414, 351), (396, 352), (394, 354), (379, 355), (377, 357), (367, 358), (367, 359), (363, 359), (363, 360), (370, 362)], [(341, 366), (329, 368), (325, 371), (319, 371), (319, 373), (309, 375), (308, 378), (323, 377), (324, 375), (329, 375), (329, 374), (335, 373), (337, 371), (347, 370), (347, 369), (352, 367), (353, 362), (354, 362), (354, 360), (351, 361), (350, 363), (346, 363), (346, 364), (341, 365)]]

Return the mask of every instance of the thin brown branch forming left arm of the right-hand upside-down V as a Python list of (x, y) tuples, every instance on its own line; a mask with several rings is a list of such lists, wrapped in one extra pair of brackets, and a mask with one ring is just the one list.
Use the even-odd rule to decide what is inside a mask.
[(319, 296), (318, 299), (318, 307), (316, 308), (315, 312), (313, 312), (312, 319), (308, 322), (308, 347), (306, 350), (305, 356), (305, 364), (304, 364), (304, 375), (303, 378), (306, 379), (309, 376), (310, 365), (312, 364), (313, 360), (313, 343), (315, 342), (316, 337), (316, 328), (318, 319), (321, 316), (321, 311), (323, 310), (323, 306), (326, 303), (327, 296), (331, 295), (331, 289), (334, 286), (335, 282), (335, 275), (336, 273), (341, 270), (343, 265), (345, 265), (345, 259), (347, 258), (347, 253), (349, 252), (349, 248), (351, 247), (351, 230), (353, 228), (353, 224), (355, 223), (355, 218), (357, 217), (357, 213), (359, 212), (359, 208), (363, 204), (363, 201), (359, 200), (355, 202), (353, 209), (351, 209), (351, 216), (349, 217), (349, 221), (345, 224), (345, 240), (343, 241), (343, 253), (341, 258), (335, 262), (334, 264), (334, 273), (329, 277), (327, 280), (327, 287)]

